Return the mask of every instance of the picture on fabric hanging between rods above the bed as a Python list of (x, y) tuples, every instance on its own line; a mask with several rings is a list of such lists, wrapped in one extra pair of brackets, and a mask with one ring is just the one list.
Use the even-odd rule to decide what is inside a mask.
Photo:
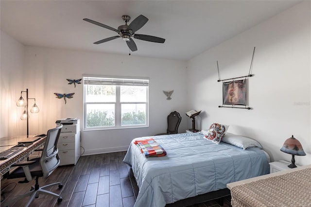
[(223, 104), (247, 105), (247, 79), (223, 82)]

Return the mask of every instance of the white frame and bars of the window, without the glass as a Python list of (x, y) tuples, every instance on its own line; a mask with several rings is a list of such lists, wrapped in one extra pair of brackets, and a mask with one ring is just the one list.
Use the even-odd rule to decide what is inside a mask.
[[(86, 84), (94, 81), (96, 85), (103, 80), (103, 85), (116, 86), (116, 102), (86, 102)], [(98, 82), (99, 81), (99, 82)], [(108, 83), (109, 82), (109, 83)], [(147, 86), (146, 102), (120, 102), (120, 86)], [(115, 104), (115, 125), (86, 127), (86, 105), (87, 104)], [(146, 104), (146, 124), (121, 125), (121, 104)], [(104, 130), (104, 129), (122, 129), (122, 128), (140, 128), (149, 127), (149, 78), (145, 77), (121, 77), (121, 76), (98, 76), (83, 74), (83, 129), (84, 131)]]

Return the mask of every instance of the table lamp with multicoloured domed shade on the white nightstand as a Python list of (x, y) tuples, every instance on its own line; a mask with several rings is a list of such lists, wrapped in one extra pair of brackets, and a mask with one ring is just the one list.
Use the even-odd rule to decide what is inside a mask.
[(283, 147), (280, 149), (282, 152), (292, 155), (292, 164), (290, 164), (289, 168), (296, 168), (295, 165), (295, 155), (304, 156), (306, 155), (305, 151), (303, 151), (302, 146), (298, 139), (294, 138), (292, 135), (291, 138), (285, 140)]

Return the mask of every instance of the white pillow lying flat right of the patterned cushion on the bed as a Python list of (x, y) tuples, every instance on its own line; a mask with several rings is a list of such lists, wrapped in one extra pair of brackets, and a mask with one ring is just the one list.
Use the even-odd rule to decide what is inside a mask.
[(262, 146), (259, 144), (258, 141), (251, 139), (251, 138), (243, 137), (241, 135), (226, 133), (223, 136), (222, 141), (225, 143), (240, 147), (243, 150), (246, 150), (247, 148), (251, 148), (251, 147), (258, 147), (262, 149)]

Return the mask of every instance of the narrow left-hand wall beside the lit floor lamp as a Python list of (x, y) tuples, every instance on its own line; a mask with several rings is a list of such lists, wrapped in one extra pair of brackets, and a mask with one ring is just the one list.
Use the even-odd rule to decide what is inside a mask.
[[(20, 120), (23, 107), (17, 107), (23, 87), (24, 46), (0, 31), (0, 137), (26, 134), (26, 121)], [(26, 96), (25, 96), (26, 97)]]

